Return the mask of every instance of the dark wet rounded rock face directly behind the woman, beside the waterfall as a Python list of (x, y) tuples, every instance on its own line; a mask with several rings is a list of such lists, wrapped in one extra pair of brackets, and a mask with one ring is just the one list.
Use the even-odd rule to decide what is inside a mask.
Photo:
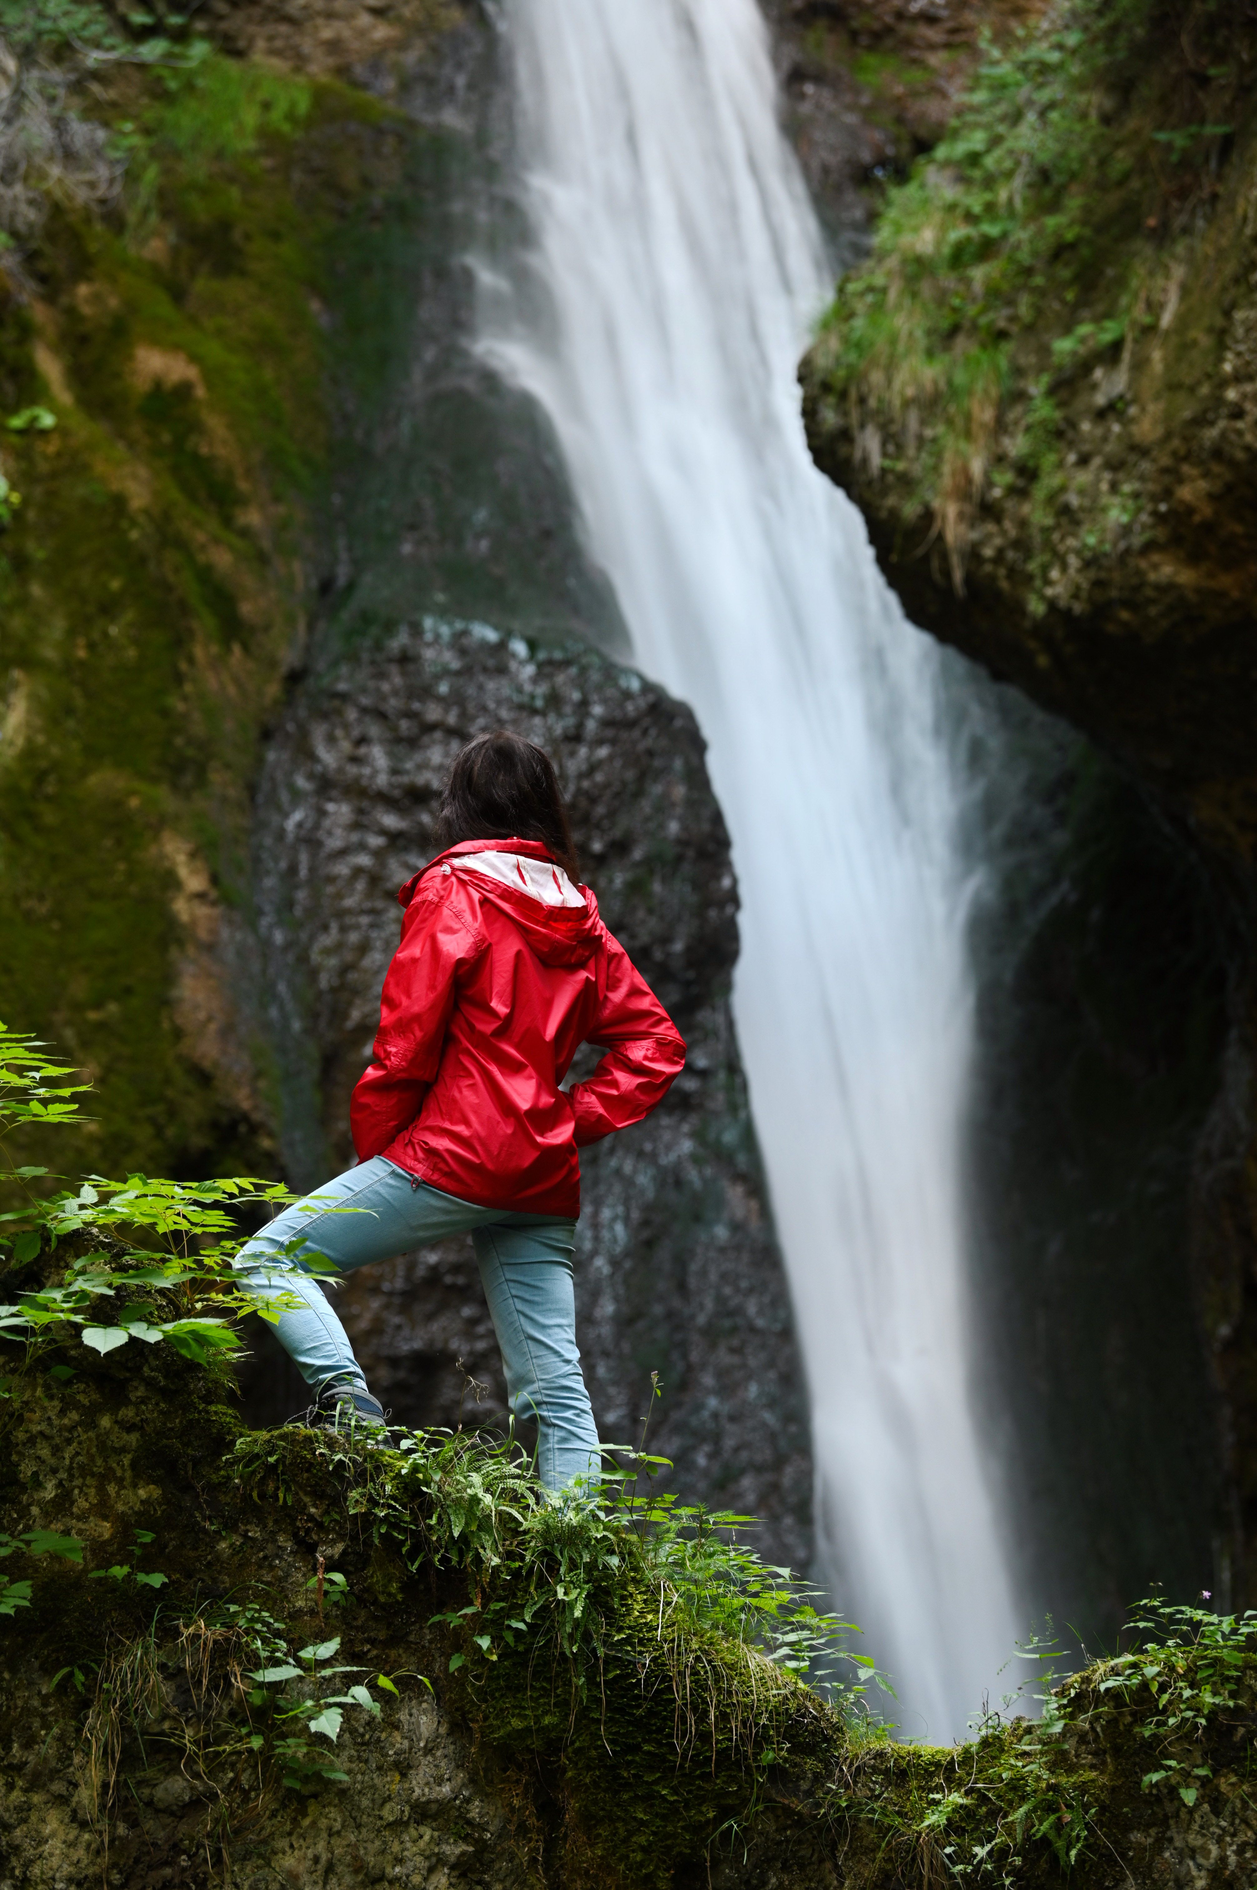
[[(803, 1387), (728, 1004), (737, 890), (688, 709), (592, 650), (431, 620), (299, 692), (257, 835), (287, 1172), (316, 1185), (352, 1160), (395, 892), (431, 858), (454, 752), (493, 726), (558, 760), (601, 913), (688, 1043), (665, 1104), (582, 1155), (577, 1306), (599, 1431), (637, 1440), (658, 1372), (650, 1438), (684, 1493), (762, 1516), (773, 1557), (805, 1567)], [(336, 1304), (399, 1419), (505, 1419), (471, 1242), (363, 1270)], [(268, 1419), (304, 1402), (268, 1338), (248, 1397)]]

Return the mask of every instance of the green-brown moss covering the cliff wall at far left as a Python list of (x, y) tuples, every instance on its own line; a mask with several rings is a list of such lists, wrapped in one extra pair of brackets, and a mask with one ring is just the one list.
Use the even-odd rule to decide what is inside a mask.
[(219, 57), (110, 85), (121, 215), (53, 210), (38, 304), (0, 285), (0, 410), (59, 420), (0, 446), (0, 1015), (100, 1085), (68, 1168), (267, 1170), (204, 968), (302, 627), (336, 244), (363, 198), (386, 242), (423, 134)]

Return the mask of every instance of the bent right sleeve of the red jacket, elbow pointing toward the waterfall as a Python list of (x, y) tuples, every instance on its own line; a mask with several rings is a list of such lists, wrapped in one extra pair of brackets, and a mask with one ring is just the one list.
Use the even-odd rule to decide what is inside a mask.
[(603, 939), (607, 987), (586, 1041), (605, 1047), (607, 1055), (592, 1077), (569, 1091), (580, 1149), (650, 1115), (686, 1060), (680, 1032), (650, 985), (611, 932)]

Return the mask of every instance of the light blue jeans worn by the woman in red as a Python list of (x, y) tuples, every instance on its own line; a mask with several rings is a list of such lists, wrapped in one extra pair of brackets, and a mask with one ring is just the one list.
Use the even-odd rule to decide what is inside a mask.
[(236, 1270), (257, 1298), (301, 1300), (280, 1312), (276, 1336), (310, 1385), (327, 1378), (365, 1385), (350, 1336), (302, 1255), (321, 1253), (350, 1274), (465, 1232), (503, 1348), (510, 1410), (537, 1419), (541, 1482), (558, 1491), (577, 1476), (597, 1478), (597, 1431), (577, 1351), (575, 1221), (476, 1208), (376, 1155), (285, 1208), (242, 1247)]

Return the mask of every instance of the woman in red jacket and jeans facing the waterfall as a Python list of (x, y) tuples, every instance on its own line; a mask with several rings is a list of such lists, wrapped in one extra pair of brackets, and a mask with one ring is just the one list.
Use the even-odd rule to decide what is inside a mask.
[[(503, 730), (469, 743), (437, 843), (397, 894), (401, 945), (350, 1109), (359, 1164), (287, 1208), (236, 1264), (261, 1298), (287, 1295), (278, 1338), (318, 1414), (382, 1425), (312, 1259), (344, 1274), (471, 1230), (510, 1410), (537, 1418), (539, 1474), (558, 1491), (599, 1469), (577, 1351), (577, 1149), (648, 1115), (684, 1043), (577, 885), (541, 748)], [(560, 1089), (586, 1041), (607, 1055)]]

